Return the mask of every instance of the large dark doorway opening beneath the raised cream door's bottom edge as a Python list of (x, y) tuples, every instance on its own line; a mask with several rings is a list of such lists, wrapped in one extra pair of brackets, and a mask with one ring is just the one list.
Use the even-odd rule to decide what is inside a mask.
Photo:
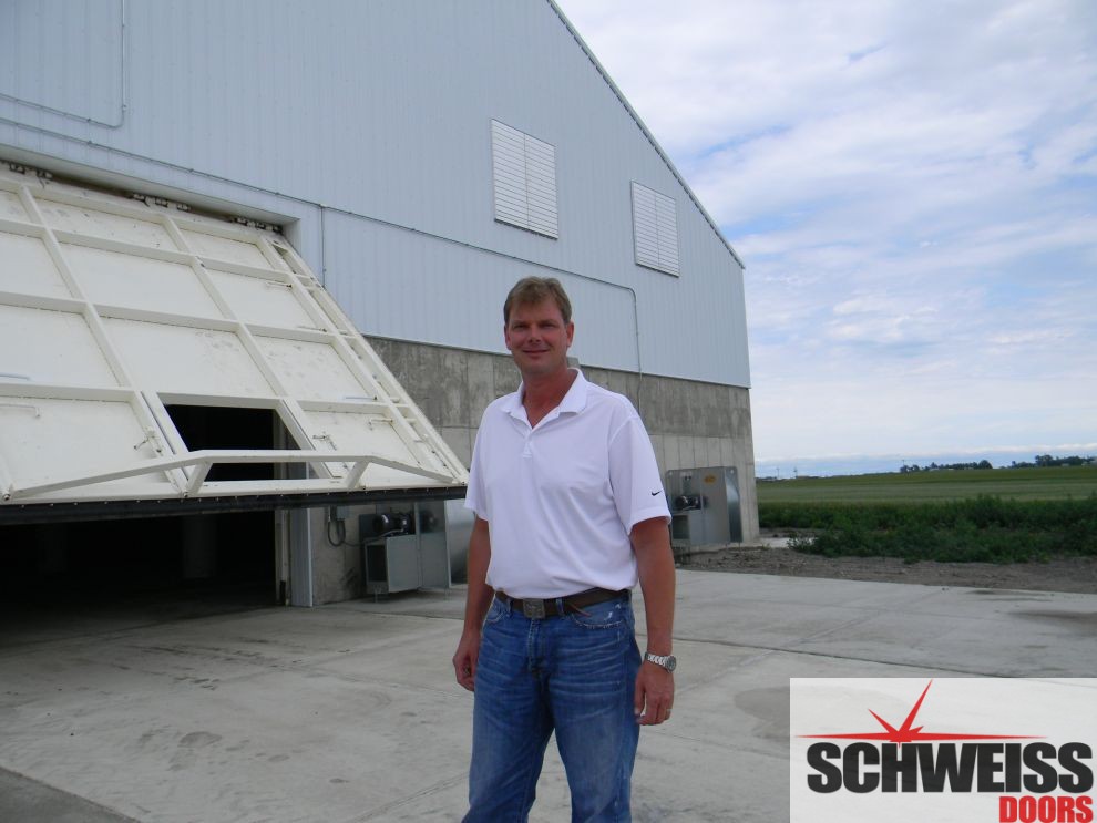
[(0, 527), (0, 645), (277, 605), (276, 516)]

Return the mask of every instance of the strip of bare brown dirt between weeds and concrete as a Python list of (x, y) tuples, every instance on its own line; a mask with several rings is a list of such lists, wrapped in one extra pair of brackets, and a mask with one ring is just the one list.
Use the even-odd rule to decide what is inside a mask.
[(819, 557), (794, 552), (775, 534), (766, 545), (721, 548), (679, 557), (683, 568), (789, 577), (914, 583), (965, 588), (1097, 594), (1097, 558), (1059, 557), (1047, 563), (903, 563), (894, 557)]

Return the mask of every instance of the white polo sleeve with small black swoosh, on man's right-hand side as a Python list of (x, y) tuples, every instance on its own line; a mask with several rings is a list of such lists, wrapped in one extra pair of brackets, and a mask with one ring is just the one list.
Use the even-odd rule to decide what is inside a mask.
[(630, 414), (609, 441), (609, 483), (625, 532), (653, 517), (670, 522), (655, 450), (639, 415)]

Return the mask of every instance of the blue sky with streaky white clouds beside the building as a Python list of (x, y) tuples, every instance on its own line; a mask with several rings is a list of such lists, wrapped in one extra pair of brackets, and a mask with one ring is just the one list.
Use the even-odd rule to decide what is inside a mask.
[(759, 476), (1097, 454), (1097, 2), (557, 3), (746, 264)]

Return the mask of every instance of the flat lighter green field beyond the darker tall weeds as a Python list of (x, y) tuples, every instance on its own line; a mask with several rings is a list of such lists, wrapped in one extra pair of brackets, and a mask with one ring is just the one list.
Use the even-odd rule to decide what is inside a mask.
[(1080, 500), (1097, 494), (1097, 466), (988, 469), (759, 481), (758, 503), (930, 503), (988, 495)]

